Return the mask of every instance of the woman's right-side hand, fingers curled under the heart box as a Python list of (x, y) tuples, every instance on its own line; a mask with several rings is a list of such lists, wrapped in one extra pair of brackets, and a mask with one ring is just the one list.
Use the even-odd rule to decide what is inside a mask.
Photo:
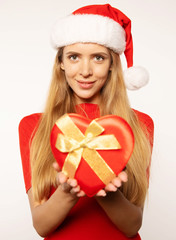
[(121, 187), (123, 182), (128, 181), (128, 175), (125, 171), (122, 171), (115, 177), (110, 183), (108, 183), (104, 189), (100, 190), (96, 196), (105, 197), (107, 192), (116, 192)]

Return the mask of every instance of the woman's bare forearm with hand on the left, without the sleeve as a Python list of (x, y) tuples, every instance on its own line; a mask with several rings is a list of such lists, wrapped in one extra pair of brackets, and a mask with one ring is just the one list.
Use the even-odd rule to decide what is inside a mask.
[[(58, 164), (54, 164), (54, 168), (59, 171)], [(77, 181), (68, 179), (62, 172), (57, 174), (57, 182), (56, 191), (41, 204), (34, 202), (32, 188), (28, 191), (33, 225), (41, 237), (46, 237), (56, 230), (77, 203), (79, 197), (84, 196)]]

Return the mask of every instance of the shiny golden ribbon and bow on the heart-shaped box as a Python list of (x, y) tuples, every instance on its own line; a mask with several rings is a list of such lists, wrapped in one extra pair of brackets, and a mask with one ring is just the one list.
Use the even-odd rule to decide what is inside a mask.
[(116, 176), (96, 151), (120, 149), (121, 146), (114, 135), (99, 136), (104, 128), (95, 120), (89, 124), (84, 135), (68, 114), (59, 118), (56, 125), (64, 134), (58, 134), (56, 148), (61, 152), (68, 152), (62, 168), (65, 175), (74, 178), (83, 157), (105, 185)]

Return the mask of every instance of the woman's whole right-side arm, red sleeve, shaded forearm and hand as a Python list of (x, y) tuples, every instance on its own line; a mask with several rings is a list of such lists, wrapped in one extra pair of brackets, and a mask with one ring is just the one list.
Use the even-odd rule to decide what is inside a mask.
[[(139, 121), (143, 124), (144, 131), (146, 132), (146, 136), (149, 138), (151, 149), (153, 147), (153, 132), (154, 132), (154, 123), (151, 117), (148, 115), (136, 111), (137, 117)], [(125, 172), (123, 172), (125, 173)], [(121, 174), (121, 173), (120, 173)], [(149, 177), (149, 167), (147, 169), (147, 176)], [(122, 192), (117, 188), (120, 187), (122, 182), (127, 181), (127, 178), (122, 179), (121, 176), (115, 178), (112, 182), (111, 186), (106, 186), (106, 191), (111, 191), (107, 194), (106, 192), (102, 192), (99, 196), (105, 197), (96, 197), (99, 205), (104, 209), (107, 216), (111, 219), (111, 221), (121, 230), (126, 236), (131, 237), (136, 235), (139, 231), (142, 224), (143, 217), (143, 207), (138, 207), (131, 202), (129, 202)], [(118, 184), (117, 184), (118, 183)], [(113, 192), (116, 191), (116, 192)]]

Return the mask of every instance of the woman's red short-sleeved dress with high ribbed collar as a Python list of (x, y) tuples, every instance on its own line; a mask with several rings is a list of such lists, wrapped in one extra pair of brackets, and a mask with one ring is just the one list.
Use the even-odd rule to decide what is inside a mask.
[[(96, 104), (81, 104), (77, 107), (77, 113), (94, 119), (100, 116), (99, 107)], [(150, 143), (153, 144), (153, 121), (141, 112), (136, 111), (139, 120), (147, 127)], [(29, 143), (33, 130), (35, 129), (41, 114), (32, 114), (24, 117), (19, 125), (20, 150), (23, 166), (23, 174), (26, 191), (31, 188), (31, 170), (29, 160)], [(72, 208), (67, 218), (46, 240), (127, 240), (122, 232), (111, 222), (103, 209), (92, 197), (82, 197)], [(139, 234), (133, 240), (141, 239)]]

